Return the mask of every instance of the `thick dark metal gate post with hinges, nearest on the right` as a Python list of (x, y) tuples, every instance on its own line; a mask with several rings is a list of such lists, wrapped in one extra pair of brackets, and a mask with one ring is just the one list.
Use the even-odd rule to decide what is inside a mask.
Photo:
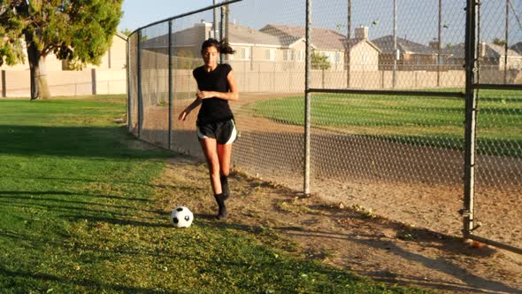
[(477, 90), (473, 88), (473, 84), (477, 74), (476, 1), (467, 0), (465, 23), (464, 237), (471, 235), (474, 216)]

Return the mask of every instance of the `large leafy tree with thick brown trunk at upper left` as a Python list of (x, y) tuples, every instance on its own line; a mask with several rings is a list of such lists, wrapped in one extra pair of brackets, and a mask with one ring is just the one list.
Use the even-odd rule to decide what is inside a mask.
[[(122, 16), (123, 0), (4, 0), (0, 2), (0, 66), (25, 62), (31, 99), (50, 98), (45, 58), (99, 65)], [(25, 43), (25, 44), (24, 44)]]

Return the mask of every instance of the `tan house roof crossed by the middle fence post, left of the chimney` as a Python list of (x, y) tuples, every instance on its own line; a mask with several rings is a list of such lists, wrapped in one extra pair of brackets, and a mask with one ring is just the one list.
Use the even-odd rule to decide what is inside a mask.
[[(296, 43), (306, 33), (304, 27), (282, 25), (266, 25), (260, 31), (278, 37), (285, 46)], [(311, 43), (318, 50), (345, 50), (346, 36), (328, 28), (312, 28)]]

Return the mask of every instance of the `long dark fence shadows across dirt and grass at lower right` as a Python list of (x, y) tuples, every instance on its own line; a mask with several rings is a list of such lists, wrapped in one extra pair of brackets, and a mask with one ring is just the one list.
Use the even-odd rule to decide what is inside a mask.
[[(370, 221), (380, 222), (380, 220)], [(245, 225), (228, 221), (208, 221), (204, 225), (211, 228), (233, 229), (249, 234), (255, 234), (257, 236), (264, 235), (267, 232), (267, 228), (263, 226)], [(495, 250), (489, 248), (481, 251), (466, 251), (462, 240), (454, 236), (442, 236), (424, 228), (405, 228), (400, 223), (392, 223), (391, 225), (397, 227), (399, 235), (407, 232), (410, 233), (411, 236), (414, 236), (411, 240), (408, 240), (408, 242), (422, 244), (425, 247), (450, 251), (456, 255), (471, 255), (476, 258), (480, 258), (481, 256), (491, 256), (495, 253)], [(410, 251), (406, 247), (395, 244), (394, 241), (383, 239), (379, 234), (361, 234), (361, 232), (338, 233), (334, 231), (307, 229), (305, 227), (276, 227), (270, 228), (270, 230), (272, 230), (273, 233), (283, 233), (286, 236), (304, 236), (313, 238), (315, 242), (319, 243), (321, 240), (339, 240), (339, 242), (346, 240), (356, 244), (363, 244), (365, 246), (374, 247), (377, 250), (386, 251), (388, 254), (398, 256), (404, 260), (408, 260), (411, 264), (419, 264), (434, 272), (454, 276), (457, 280), (461, 281), (449, 282), (436, 279), (421, 279), (415, 275), (392, 273), (389, 272), (387, 268), (383, 268), (381, 271), (359, 273), (360, 275), (368, 276), (380, 282), (391, 282), (403, 286), (418, 286), (435, 290), (466, 291), (474, 293), (518, 293), (519, 291), (519, 289), (515, 289), (506, 283), (489, 280), (480, 275), (475, 275), (471, 269), (460, 267), (451, 259), (431, 257)]]

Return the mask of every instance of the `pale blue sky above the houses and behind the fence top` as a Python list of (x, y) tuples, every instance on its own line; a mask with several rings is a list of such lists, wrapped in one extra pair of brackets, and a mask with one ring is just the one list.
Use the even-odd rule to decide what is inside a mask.
[[(222, 0), (216, 0), (217, 3)], [(427, 44), (437, 37), (438, 0), (397, 0), (397, 36)], [(522, 0), (510, 0), (510, 44), (522, 40)], [(245, 0), (231, 4), (230, 21), (245, 27), (259, 29), (267, 24), (304, 26), (304, 0)], [(330, 28), (346, 35), (347, 0), (312, 0), (312, 27)], [(392, 0), (352, 0), (352, 34), (354, 27), (370, 27), (370, 39), (393, 34)], [(125, 0), (124, 16), (119, 30), (134, 31), (152, 22), (193, 12), (213, 4), (212, 0)], [(442, 45), (464, 42), (464, 0), (441, 0)], [(487, 1), (482, 7), (482, 42), (504, 39), (505, 2)], [(211, 11), (200, 12), (180, 19), (174, 30), (194, 26), (200, 21), (210, 22)], [(165, 25), (157, 26), (157, 33), (165, 34)], [(155, 29), (152, 27), (151, 29)]]

